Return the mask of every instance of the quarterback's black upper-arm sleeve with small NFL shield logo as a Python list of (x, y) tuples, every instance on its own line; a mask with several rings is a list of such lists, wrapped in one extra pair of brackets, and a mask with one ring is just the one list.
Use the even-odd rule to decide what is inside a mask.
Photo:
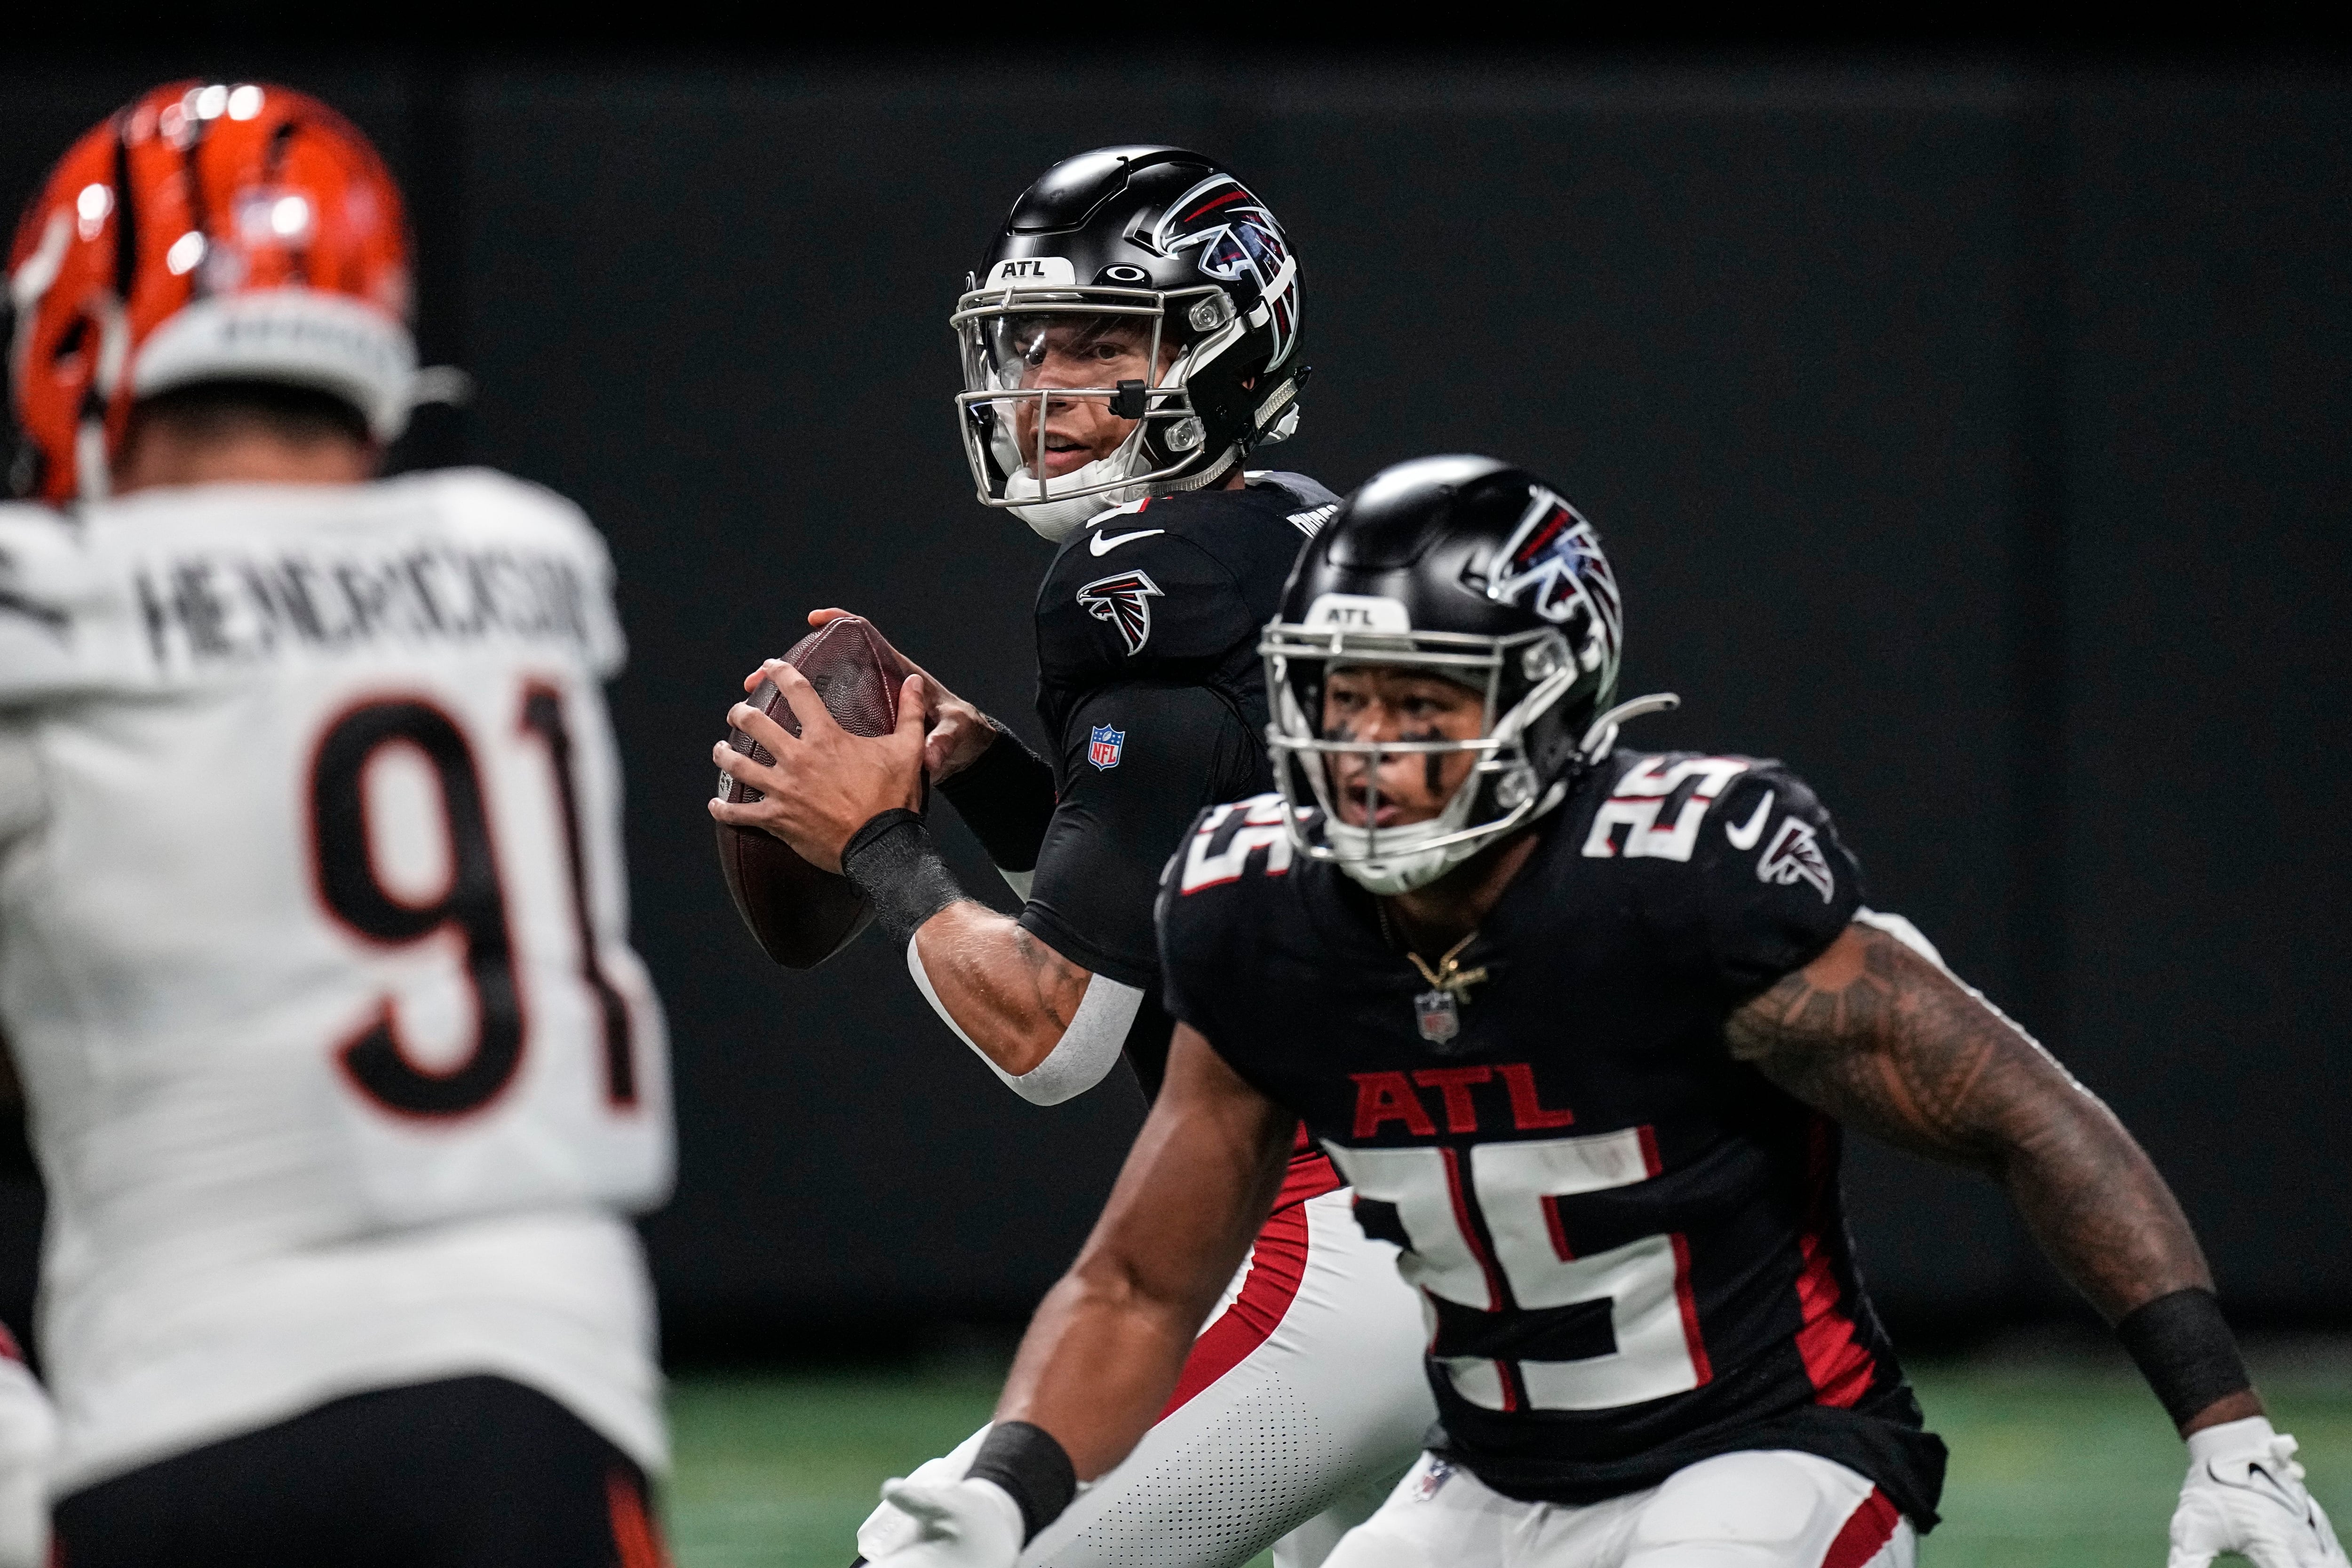
[[(1105, 731), (1101, 750), (1096, 731)], [(1207, 686), (1141, 684), (1080, 701), (1061, 743), (1070, 783), (1021, 924), (1073, 964), (1157, 990), (1160, 867), (1202, 806), (1265, 788), (1265, 750)]]

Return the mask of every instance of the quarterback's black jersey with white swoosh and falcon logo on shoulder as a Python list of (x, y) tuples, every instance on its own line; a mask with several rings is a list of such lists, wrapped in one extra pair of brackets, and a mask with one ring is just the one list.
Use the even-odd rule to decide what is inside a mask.
[(1291, 473), (1136, 501), (1065, 538), (1037, 590), (1037, 717), (1058, 799), (1021, 924), (1145, 992), (1127, 1037), (1145, 1093), (1174, 1027), (1152, 938), (1160, 867), (1202, 806), (1270, 783), (1258, 632), (1336, 505)]

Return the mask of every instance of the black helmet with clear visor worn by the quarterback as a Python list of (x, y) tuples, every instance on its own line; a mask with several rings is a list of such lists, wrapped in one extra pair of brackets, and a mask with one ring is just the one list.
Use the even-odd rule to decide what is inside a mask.
[[(1298, 423), (1298, 261), (1265, 202), (1202, 153), (1096, 148), (1047, 169), (964, 277), (950, 324), (978, 496), (1047, 538), (1214, 484)], [(1077, 386), (1084, 374), (1040, 371), (1049, 346), (1105, 339), (1131, 343), (1136, 374)], [(1136, 428), (1110, 456), (1049, 475), (1047, 411), (1063, 402), (1103, 402)]]

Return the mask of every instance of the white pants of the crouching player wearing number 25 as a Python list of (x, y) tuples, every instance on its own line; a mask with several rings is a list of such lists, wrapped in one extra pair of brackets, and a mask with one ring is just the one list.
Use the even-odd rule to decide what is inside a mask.
[(1517, 1502), (1423, 1455), (1324, 1568), (1915, 1568), (1919, 1537), (1865, 1476), (1813, 1453), (1724, 1453), (1663, 1486)]

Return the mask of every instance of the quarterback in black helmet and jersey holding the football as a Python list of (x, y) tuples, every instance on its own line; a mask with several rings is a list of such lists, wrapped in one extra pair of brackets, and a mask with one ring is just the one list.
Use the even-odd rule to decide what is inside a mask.
[[(915, 985), (1014, 1093), (1056, 1105), (1122, 1051), (1157, 1093), (1160, 865), (1204, 804), (1265, 788), (1258, 628), (1338, 503), (1244, 468), (1298, 416), (1298, 261), (1216, 160), (1101, 148), (1021, 195), (953, 327), (978, 498), (1058, 545), (1037, 590), (1051, 762), (927, 675), (901, 736), (844, 736), (774, 663), (802, 733), (736, 708), (776, 764), (717, 748), (764, 799), (713, 816), (868, 889)], [(1028, 900), (1018, 917), (964, 898), (915, 811), (877, 816), (915, 804), (924, 766)], [(1414, 1460), (1435, 1408), (1390, 1248), (1303, 1140), (1270, 1208), (1152, 1432), (1025, 1561), (1216, 1568), (1282, 1537), (1277, 1561), (1303, 1568)], [(922, 1474), (960, 1476), (983, 1436)], [(858, 1542), (873, 1556), (915, 1528), (884, 1505)]]

